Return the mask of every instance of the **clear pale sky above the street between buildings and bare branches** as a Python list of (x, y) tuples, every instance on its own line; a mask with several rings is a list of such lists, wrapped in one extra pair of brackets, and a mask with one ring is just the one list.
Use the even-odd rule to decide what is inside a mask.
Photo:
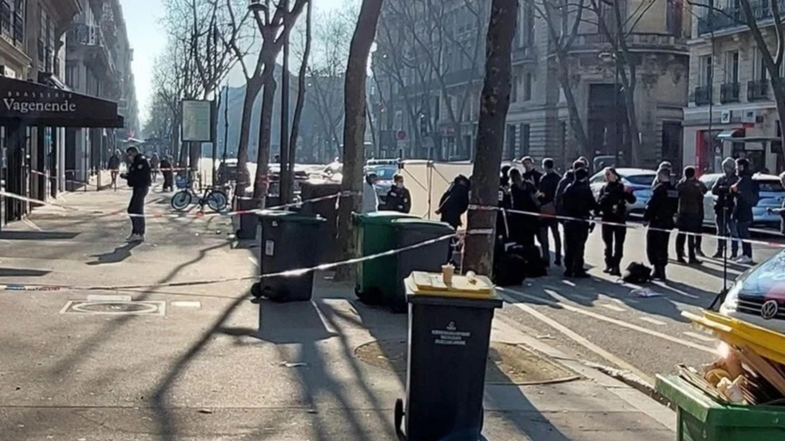
[[(345, 0), (313, 0), (314, 11), (340, 7)], [(147, 119), (152, 81), (152, 64), (163, 49), (166, 37), (159, 25), (163, 15), (162, 0), (120, 0), (126, 19), (128, 39), (133, 48), (133, 76), (137, 86), (139, 116), (142, 124)]]

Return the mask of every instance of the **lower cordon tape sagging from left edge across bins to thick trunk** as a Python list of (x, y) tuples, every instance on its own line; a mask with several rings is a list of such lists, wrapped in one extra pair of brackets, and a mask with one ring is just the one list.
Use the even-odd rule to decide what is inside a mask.
[(338, 261), (338, 262), (330, 262), (327, 264), (319, 264), (316, 266), (308, 267), (308, 268), (297, 268), (297, 269), (290, 269), (287, 271), (282, 272), (272, 272), (268, 274), (261, 274), (261, 275), (245, 275), (240, 277), (225, 277), (222, 279), (203, 279), (203, 280), (190, 280), (184, 282), (166, 282), (166, 283), (147, 283), (147, 284), (137, 284), (137, 285), (88, 285), (88, 286), (79, 286), (79, 285), (54, 285), (54, 284), (34, 284), (34, 283), (7, 283), (4, 285), (0, 285), (0, 290), (5, 291), (64, 291), (64, 290), (78, 290), (78, 291), (122, 291), (122, 290), (140, 290), (143, 288), (163, 288), (163, 287), (171, 287), (171, 286), (199, 286), (199, 285), (211, 285), (214, 283), (225, 283), (225, 282), (242, 282), (244, 280), (261, 280), (261, 279), (268, 279), (271, 277), (295, 277), (298, 275), (304, 275), (309, 272), (315, 271), (324, 271), (332, 268), (338, 268), (344, 265), (350, 264), (359, 264), (364, 261), (371, 261), (374, 259), (378, 259), (379, 257), (386, 257), (392, 256), (398, 253), (403, 253), (404, 251), (409, 250), (416, 250), (418, 248), (422, 248), (423, 246), (433, 245), (436, 242), (442, 242), (447, 239), (452, 239), (458, 236), (459, 233), (452, 233), (449, 235), (442, 235), (440, 237), (434, 239), (424, 240), (422, 242), (414, 243), (409, 246), (403, 246), (401, 248), (397, 248), (395, 250), (388, 250), (383, 251), (382, 253), (375, 253), (368, 256), (363, 257), (354, 257), (352, 259), (347, 259), (345, 261)]

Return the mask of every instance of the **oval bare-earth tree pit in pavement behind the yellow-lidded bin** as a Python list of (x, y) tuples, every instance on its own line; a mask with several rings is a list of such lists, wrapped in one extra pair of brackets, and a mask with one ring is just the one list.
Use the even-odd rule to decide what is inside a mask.
[[(406, 341), (371, 341), (356, 348), (364, 363), (399, 374), (406, 373)], [(485, 367), (486, 383), (521, 385), (577, 378), (574, 372), (518, 344), (491, 342)]]

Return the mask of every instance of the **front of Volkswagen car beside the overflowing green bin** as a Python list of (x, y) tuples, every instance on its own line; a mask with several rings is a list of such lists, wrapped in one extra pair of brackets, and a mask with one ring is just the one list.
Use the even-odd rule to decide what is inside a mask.
[(785, 332), (785, 250), (739, 275), (720, 312)]

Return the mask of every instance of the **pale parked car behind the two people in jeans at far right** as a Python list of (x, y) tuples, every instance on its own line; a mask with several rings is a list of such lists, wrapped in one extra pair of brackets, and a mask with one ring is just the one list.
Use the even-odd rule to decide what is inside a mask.
[[(701, 182), (706, 184), (709, 191), (703, 197), (703, 223), (714, 225), (714, 202), (717, 196), (711, 194), (711, 188), (714, 183), (722, 176), (722, 173), (704, 174), (700, 177)], [(758, 205), (752, 209), (753, 223), (754, 224), (780, 224), (780, 217), (777, 213), (768, 213), (766, 210), (769, 208), (780, 208), (783, 205), (783, 198), (785, 198), (785, 188), (780, 183), (780, 178), (772, 174), (755, 173), (752, 178), (758, 182), (760, 187), (761, 199), (758, 200)]]

